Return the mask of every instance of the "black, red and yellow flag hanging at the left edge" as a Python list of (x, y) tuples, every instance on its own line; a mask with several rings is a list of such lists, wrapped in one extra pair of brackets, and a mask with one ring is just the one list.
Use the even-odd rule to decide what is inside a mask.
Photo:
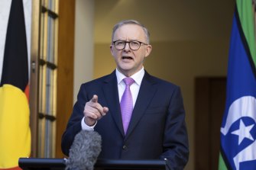
[(11, 10), (4, 52), (0, 56), (0, 169), (9, 170), (20, 169), (18, 159), (30, 156), (31, 131), (28, 107), (28, 47), (23, 2), (6, 2), (10, 2)]

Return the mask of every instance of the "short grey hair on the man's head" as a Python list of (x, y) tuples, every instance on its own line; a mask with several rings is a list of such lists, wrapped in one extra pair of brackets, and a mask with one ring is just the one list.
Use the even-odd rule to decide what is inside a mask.
[(122, 27), (125, 24), (135, 24), (135, 25), (140, 26), (144, 30), (144, 34), (145, 34), (147, 43), (148, 44), (150, 43), (150, 34), (149, 34), (149, 31), (147, 30), (147, 27), (144, 27), (143, 24), (141, 24), (140, 22), (135, 21), (135, 20), (123, 20), (123, 21), (118, 22), (118, 24), (115, 24), (115, 26), (113, 27), (113, 30), (112, 30), (112, 41), (114, 39), (115, 30), (117, 30), (119, 27)]

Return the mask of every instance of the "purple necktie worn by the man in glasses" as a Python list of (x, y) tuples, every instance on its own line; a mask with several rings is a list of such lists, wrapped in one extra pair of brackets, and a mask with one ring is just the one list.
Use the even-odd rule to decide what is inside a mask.
[(125, 82), (125, 92), (122, 95), (122, 99), (120, 102), (121, 113), (122, 113), (122, 121), (125, 133), (128, 129), (128, 125), (131, 120), (131, 114), (133, 110), (133, 102), (132, 102), (132, 95), (130, 90), (130, 85), (134, 83), (134, 79), (127, 77), (123, 79)]

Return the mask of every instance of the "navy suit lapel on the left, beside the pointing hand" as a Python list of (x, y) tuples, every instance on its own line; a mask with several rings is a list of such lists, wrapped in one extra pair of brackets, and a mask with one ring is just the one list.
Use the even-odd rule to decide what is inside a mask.
[(118, 97), (118, 85), (115, 71), (112, 72), (112, 74), (109, 75), (104, 82), (105, 85), (103, 86), (103, 91), (109, 107), (109, 114), (111, 114), (113, 120), (115, 120), (120, 133), (125, 136), (122, 125), (122, 116)]

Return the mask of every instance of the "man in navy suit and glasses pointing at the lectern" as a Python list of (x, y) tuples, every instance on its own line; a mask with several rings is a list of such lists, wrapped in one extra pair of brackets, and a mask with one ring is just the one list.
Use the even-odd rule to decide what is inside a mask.
[[(80, 130), (102, 136), (102, 159), (164, 159), (183, 169), (189, 146), (180, 88), (149, 75), (144, 59), (151, 53), (149, 32), (138, 21), (121, 21), (110, 50), (117, 69), (81, 85), (62, 137), (68, 156)], [(128, 78), (128, 81), (126, 81)]]

